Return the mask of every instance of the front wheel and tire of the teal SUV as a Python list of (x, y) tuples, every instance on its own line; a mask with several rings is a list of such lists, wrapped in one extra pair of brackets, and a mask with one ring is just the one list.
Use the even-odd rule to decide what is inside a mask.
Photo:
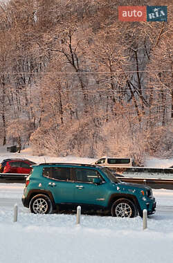
[(111, 206), (112, 217), (136, 217), (137, 210), (129, 199), (118, 199)]

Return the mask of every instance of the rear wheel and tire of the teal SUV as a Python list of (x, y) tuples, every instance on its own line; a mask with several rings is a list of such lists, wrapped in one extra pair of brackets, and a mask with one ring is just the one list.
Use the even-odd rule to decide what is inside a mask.
[(30, 200), (30, 212), (34, 214), (51, 214), (53, 206), (49, 197), (37, 194)]

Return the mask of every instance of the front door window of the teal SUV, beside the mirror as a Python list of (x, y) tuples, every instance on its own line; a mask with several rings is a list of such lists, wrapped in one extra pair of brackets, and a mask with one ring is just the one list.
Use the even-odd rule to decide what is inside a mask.
[(92, 183), (94, 178), (102, 179), (96, 170), (75, 168), (75, 181)]

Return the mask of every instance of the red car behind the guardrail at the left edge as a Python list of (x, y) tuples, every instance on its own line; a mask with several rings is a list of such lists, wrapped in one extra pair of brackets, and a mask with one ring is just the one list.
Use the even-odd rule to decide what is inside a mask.
[(33, 161), (27, 159), (6, 159), (0, 164), (0, 173), (29, 174), (34, 165)]

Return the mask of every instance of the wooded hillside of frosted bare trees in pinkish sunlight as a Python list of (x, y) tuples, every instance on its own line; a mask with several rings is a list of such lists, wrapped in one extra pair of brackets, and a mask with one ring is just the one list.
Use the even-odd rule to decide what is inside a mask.
[[(120, 22), (126, 5), (167, 5), (167, 22)], [(173, 154), (171, 1), (11, 0), (0, 13), (1, 145)]]

